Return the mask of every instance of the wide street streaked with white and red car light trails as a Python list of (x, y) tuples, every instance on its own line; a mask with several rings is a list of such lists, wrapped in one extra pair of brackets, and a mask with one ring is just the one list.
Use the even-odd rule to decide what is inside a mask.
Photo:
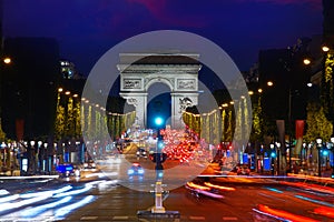
[[(334, 192), (330, 183), (318, 186), (292, 176), (277, 180), (255, 174), (198, 176), (188, 181), (191, 183), (178, 183), (176, 189), (176, 183), (169, 183), (185, 173), (173, 180), (165, 174), (163, 189), (169, 192), (164, 193), (163, 205), (166, 212), (179, 214), (175, 218), (137, 215), (138, 211), (150, 211), (155, 205), (150, 192), (155, 188), (154, 180), (146, 181), (146, 175), (134, 180), (122, 172), (126, 165), (122, 161), (137, 161), (147, 168), (151, 164), (150, 160), (138, 160), (134, 149), (129, 147), (118, 158), (97, 161), (98, 169), (82, 171), (80, 179), (1, 178), (0, 221), (334, 220)], [(175, 162), (166, 165), (170, 168)], [(191, 169), (183, 165), (180, 171)]]

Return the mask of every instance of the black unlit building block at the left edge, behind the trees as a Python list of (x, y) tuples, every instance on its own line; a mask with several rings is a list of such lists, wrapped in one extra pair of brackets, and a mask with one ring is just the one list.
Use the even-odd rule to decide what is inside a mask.
[(59, 47), (50, 38), (8, 38), (3, 52), (12, 60), (1, 81), (2, 127), (8, 139), (52, 135)]

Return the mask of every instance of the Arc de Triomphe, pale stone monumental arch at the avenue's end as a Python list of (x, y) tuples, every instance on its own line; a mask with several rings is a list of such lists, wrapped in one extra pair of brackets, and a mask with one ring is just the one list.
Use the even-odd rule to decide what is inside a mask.
[(150, 85), (160, 82), (169, 87), (171, 128), (184, 127), (183, 111), (198, 103), (198, 62), (195, 53), (120, 53), (120, 97), (136, 108), (137, 124), (147, 123), (147, 95)]

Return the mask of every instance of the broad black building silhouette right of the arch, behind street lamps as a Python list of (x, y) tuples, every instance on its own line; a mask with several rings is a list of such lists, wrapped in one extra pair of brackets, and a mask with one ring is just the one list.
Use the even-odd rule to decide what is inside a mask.
[(276, 120), (293, 124), (294, 120), (306, 118), (310, 94), (306, 85), (312, 73), (304, 59), (310, 57), (311, 42), (310, 38), (301, 38), (286, 49), (259, 51), (258, 84), (264, 92), (263, 110), (266, 121), (273, 123), (268, 131), (275, 130)]

